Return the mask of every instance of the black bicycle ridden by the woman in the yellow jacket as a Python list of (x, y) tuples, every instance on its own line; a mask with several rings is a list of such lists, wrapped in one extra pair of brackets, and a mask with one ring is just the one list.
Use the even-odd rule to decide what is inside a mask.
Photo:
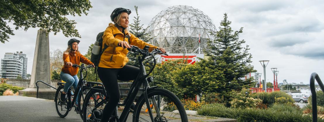
[[(168, 122), (168, 121), (181, 121), (188, 122), (185, 109), (180, 102), (179, 98), (169, 90), (158, 88), (157, 86), (150, 87), (149, 83), (153, 81), (153, 77), (148, 75), (153, 71), (156, 65), (155, 54), (162, 53), (160, 50), (153, 50), (148, 52), (148, 46), (144, 50), (136, 46), (132, 46), (128, 50), (138, 52), (141, 55), (138, 57), (140, 64), (140, 73), (132, 83), (129, 93), (122, 104), (124, 106), (121, 115), (118, 116), (118, 108), (114, 111), (113, 116), (110, 117), (110, 122), (126, 122), (130, 112), (133, 112), (133, 122)], [(165, 54), (165, 53), (162, 53)], [(165, 54), (167, 55), (167, 54)], [(154, 61), (153, 68), (146, 74), (143, 61), (146, 57), (152, 56)], [(87, 85), (102, 85), (102, 83), (88, 82)], [(143, 94), (135, 101), (136, 94), (143, 91)], [(132, 111), (131, 105), (136, 102)], [(87, 93), (83, 104), (83, 120), (84, 122), (96, 122), (101, 120), (103, 108), (109, 102), (109, 96), (106, 94), (104, 87), (91, 88)], [(178, 114), (170, 110), (170, 106), (178, 109)]]

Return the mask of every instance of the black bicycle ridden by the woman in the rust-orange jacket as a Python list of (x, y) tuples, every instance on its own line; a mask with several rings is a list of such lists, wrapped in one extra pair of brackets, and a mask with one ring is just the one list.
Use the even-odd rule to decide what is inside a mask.
[[(79, 67), (80, 68), (80, 79), (79, 79), (79, 83), (77, 85), (76, 88), (72, 89), (69, 88), (69, 90), (66, 92), (66, 101), (64, 103), (61, 102), (61, 93), (63, 92), (64, 89), (64, 85), (65, 83), (62, 82), (57, 82), (58, 88), (57, 91), (55, 93), (55, 106), (56, 106), (56, 111), (57, 114), (60, 117), (65, 117), (67, 116), (67, 114), (69, 113), (69, 111), (71, 111), (71, 109), (73, 107), (75, 107), (76, 113), (80, 114), (81, 118), (83, 118), (83, 113), (80, 112), (82, 111), (82, 107), (83, 107), (83, 100), (87, 94), (88, 91), (90, 91), (91, 86), (86, 85), (87, 81), (84, 80), (87, 77), (87, 68), (93, 67), (92, 65), (88, 65), (85, 66), (84, 64), (81, 64), (81, 66), (77, 65), (77, 64), (73, 64), (72, 67)], [(85, 76), (83, 76), (83, 71), (86, 71)], [(97, 88), (101, 88), (101, 87), (97, 87)], [(74, 93), (72, 94), (71, 91)], [(79, 94), (79, 91), (80, 92)], [(76, 95), (79, 95), (78, 99), (74, 99)], [(78, 105), (75, 105), (76, 100), (78, 101)]]

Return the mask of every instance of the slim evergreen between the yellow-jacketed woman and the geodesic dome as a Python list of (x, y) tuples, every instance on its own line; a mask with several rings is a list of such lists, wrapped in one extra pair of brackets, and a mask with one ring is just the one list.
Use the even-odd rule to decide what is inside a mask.
[[(143, 24), (140, 23), (140, 16), (138, 16), (138, 11), (137, 11), (137, 6), (134, 6), (135, 7), (135, 12), (136, 12), (136, 17), (134, 17), (133, 21), (134, 23), (130, 24), (130, 33), (132, 33), (135, 37), (145, 41), (145, 42), (149, 42), (151, 39), (150, 37), (150, 33), (147, 33), (147, 28), (143, 28)], [(135, 66), (135, 67), (139, 67), (139, 64), (137, 63), (138, 61), (138, 56), (140, 54), (138, 53), (134, 53), (132, 51), (130, 51), (128, 54), (127, 54), (127, 57), (129, 58), (129, 62), (127, 63), (127, 65), (132, 65), (132, 66)], [(151, 61), (152, 62), (152, 61)]]

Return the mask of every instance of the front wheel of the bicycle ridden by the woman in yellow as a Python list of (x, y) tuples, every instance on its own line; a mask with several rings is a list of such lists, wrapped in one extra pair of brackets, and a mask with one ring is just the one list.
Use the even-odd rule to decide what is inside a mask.
[[(148, 104), (143, 95), (137, 101), (133, 122), (151, 122), (149, 109), (152, 111), (154, 122), (188, 122), (188, 117), (182, 103), (172, 92), (156, 88), (148, 91), (147, 95), (149, 99)], [(175, 109), (179, 113), (174, 113)]]

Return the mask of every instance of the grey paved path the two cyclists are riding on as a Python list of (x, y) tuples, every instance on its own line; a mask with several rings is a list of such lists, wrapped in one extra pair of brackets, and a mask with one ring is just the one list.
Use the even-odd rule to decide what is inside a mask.
[[(177, 117), (177, 116), (174, 116)], [(229, 122), (234, 119), (188, 116), (189, 121)], [(25, 96), (0, 96), (0, 122), (82, 122), (74, 108), (62, 118), (57, 115), (53, 100)], [(177, 120), (176, 120), (177, 121)], [(127, 122), (132, 122), (130, 114)]]

